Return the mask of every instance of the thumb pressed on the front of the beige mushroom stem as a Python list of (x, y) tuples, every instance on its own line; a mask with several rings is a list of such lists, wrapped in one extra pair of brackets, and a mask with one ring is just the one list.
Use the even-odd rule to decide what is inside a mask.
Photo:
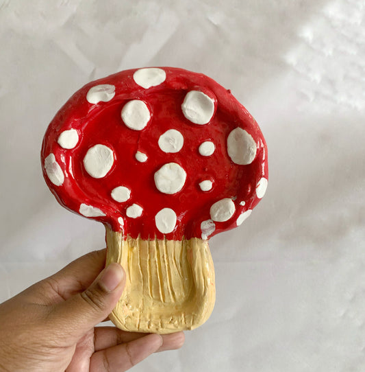
[(49, 321), (67, 336), (83, 336), (112, 312), (124, 286), (125, 272), (122, 266), (110, 264), (84, 292), (56, 305)]

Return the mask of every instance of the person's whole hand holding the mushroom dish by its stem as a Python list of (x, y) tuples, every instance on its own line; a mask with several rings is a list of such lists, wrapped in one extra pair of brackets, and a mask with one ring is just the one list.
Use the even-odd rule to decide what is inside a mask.
[(121, 297), (124, 270), (88, 253), (0, 305), (0, 371), (126, 371), (151, 353), (178, 349), (160, 336), (95, 327)]

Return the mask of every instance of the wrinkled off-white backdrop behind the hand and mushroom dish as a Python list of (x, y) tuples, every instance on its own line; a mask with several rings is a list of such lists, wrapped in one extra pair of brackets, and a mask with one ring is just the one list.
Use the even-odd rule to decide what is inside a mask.
[(182, 67), (257, 119), (269, 186), (211, 240), (209, 321), (134, 371), (365, 371), (364, 16), (363, 0), (0, 0), (0, 302), (104, 246), (42, 179), (58, 108), (115, 71)]

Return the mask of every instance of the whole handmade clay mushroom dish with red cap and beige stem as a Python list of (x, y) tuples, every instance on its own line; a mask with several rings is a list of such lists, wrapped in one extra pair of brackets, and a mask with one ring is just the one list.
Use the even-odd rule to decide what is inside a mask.
[(264, 196), (255, 119), (201, 73), (122, 71), (77, 91), (49, 124), (42, 169), (67, 209), (100, 221), (127, 280), (110, 319), (131, 332), (194, 329), (212, 313), (208, 240)]

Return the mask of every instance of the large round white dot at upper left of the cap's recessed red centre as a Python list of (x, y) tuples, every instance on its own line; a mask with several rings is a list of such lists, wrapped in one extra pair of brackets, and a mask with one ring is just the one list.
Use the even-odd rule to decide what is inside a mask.
[(151, 119), (151, 113), (143, 101), (131, 100), (123, 106), (121, 117), (128, 128), (142, 130)]

